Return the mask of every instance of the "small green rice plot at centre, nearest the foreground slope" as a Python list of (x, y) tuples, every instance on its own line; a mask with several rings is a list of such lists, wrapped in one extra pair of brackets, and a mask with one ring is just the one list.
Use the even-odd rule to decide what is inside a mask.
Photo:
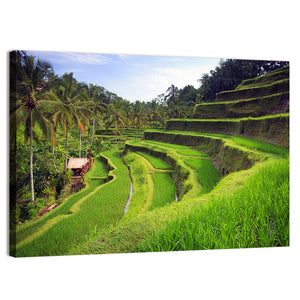
[(176, 199), (176, 186), (169, 174), (153, 173), (154, 194), (149, 210), (165, 206)]

